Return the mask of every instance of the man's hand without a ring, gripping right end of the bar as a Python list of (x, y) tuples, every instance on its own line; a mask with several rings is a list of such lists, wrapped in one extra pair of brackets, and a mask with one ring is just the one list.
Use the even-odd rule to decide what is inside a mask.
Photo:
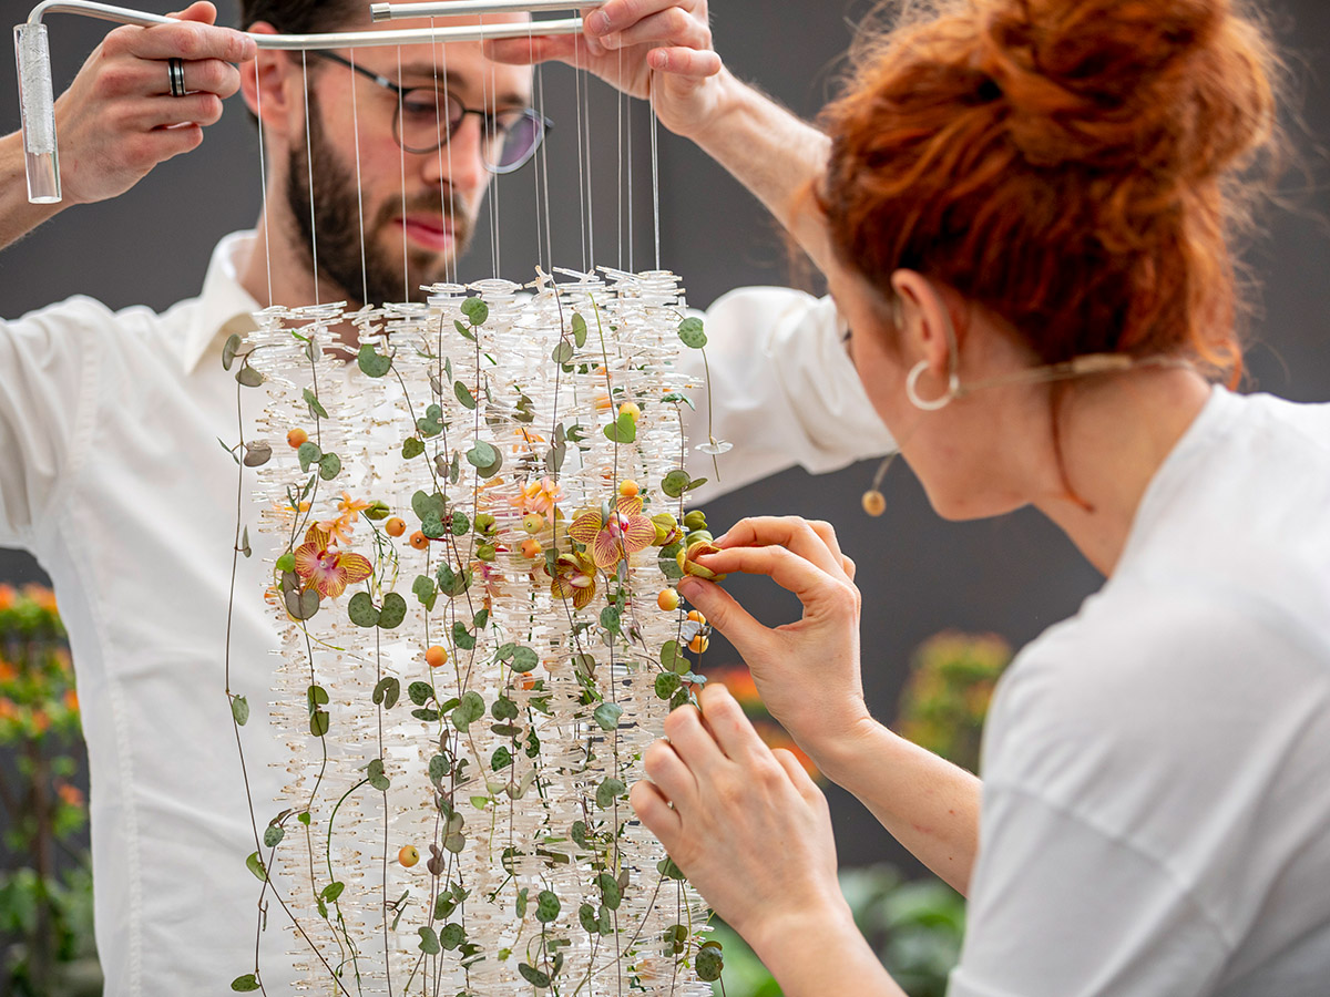
[(721, 100), (706, 0), (609, 0), (584, 12), (581, 36), (509, 39), (485, 51), (519, 65), (559, 60), (633, 97), (653, 97), (661, 124), (681, 136), (701, 132)]

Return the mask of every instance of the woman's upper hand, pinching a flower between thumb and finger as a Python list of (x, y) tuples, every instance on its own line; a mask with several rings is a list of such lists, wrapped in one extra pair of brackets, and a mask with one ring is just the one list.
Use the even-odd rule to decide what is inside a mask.
[(803, 604), (794, 623), (766, 627), (712, 582), (685, 578), (678, 590), (738, 649), (762, 702), (817, 759), (831, 743), (874, 726), (859, 677), (859, 590), (854, 562), (835, 530), (799, 517), (741, 520), (698, 558), (718, 574), (769, 576)]

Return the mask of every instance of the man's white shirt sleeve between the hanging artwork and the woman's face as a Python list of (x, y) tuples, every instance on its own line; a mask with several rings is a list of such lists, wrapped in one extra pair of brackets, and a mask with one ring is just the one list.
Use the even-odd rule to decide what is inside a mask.
[[(718, 495), (794, 467), (819, 475), (895, 449), (842, 343), (845, 324), (830, 298), (785, 287), (743, 287), (706, 311), (706, 389), (684, 407), (688, 472), (708, 479), (689, 492), (700, 505)], [(698, 380), (702, 356), (686, 350), (680, 364)], [(734, 444), (712, 459), (696, 447)]]

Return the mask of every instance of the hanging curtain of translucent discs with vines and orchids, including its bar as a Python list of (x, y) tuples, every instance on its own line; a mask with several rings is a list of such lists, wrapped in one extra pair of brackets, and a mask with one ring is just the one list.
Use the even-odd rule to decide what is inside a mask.
[[(25, 29), (29, 189), (59, 199), (40, 8)], [(258, 439), (233, 452), (278, 552), (266, 592), (233, 592), (265, 600), (281, 633), (271, 698), (226, 689), (238, 743), (261, 707), (283, 747), (282, 808), (250, 802), (249, 872), (237, 861), (259, 929), (271, 899), (306, 992), (709, 994), (722, 957), (708, 912), (626, 796), (705, 681), (689, 655), (706, 621), (673, 589), (713, 577), (694, 558), (716, 549), (684, 509), (702, 481), (685, 471), (681, 407), (706, 386), (677, 362), (706, 335), (678, 279), (537, 269), (527, 286), (255, 320), (222, 363), (262, 397)], [(354, 354), (338, 348), (347, 322)], [(230, 988), (262, 990), (262, 968)]]

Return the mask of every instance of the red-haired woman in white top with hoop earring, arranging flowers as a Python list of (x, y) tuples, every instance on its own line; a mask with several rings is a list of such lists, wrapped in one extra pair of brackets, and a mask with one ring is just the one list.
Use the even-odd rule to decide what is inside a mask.
[[(956, 0), (872, 41), (825, 116), (829, 280), (934, 508), (1033, 505), (1108, 578), (1003, 677), (982, 787), (868, 715), (826, 524), (745, 520), (702, 558), (794, 592), (793, 625), (680, 586), (968, 895), (952, 997), (1330, 988), (1330, 405), (1221, 387), (1273, 72), (1236, 0)], [(785, 993), (902, 993), (793, 756), (720, 686), (666, 734), (633, 806)]]

